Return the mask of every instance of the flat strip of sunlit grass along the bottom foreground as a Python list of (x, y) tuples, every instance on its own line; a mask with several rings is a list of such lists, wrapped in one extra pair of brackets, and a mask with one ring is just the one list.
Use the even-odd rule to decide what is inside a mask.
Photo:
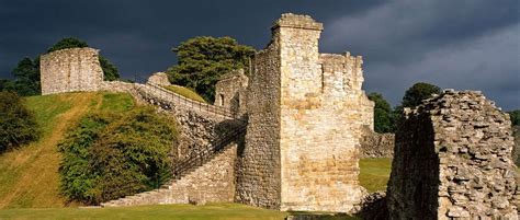
[(286, 216), (286, 212), (240, 204), (0, 210), (0, 219), (284, 219)]

